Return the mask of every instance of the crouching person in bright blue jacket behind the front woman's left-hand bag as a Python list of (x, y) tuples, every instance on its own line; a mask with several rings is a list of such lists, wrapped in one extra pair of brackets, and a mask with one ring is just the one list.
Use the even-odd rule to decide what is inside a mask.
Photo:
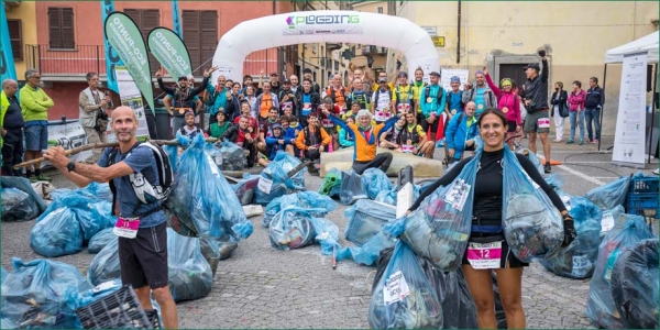
[(474, 151), (474, 139), (479, 135), (476, 124), (476, 103), (473, 101), (465, 105), (465, 111), (454, 116), (447, 127), (447, 157), (448, 164), (461, 161), (464, 151)]

